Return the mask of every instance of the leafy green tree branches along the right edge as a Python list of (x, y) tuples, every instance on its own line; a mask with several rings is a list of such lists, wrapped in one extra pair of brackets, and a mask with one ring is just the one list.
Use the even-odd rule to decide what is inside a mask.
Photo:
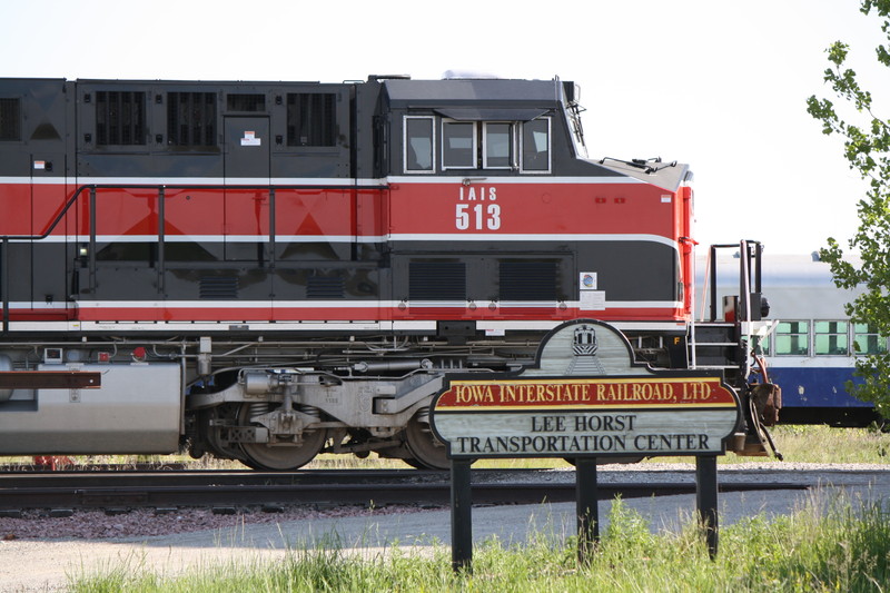
[[(887, 43), (876, 49), (878, 61), (890, 68), (890, 0), (860, 0), (860, 11), (880, 19)], [(838, 115), (828, 99), (810, 97), (807, 111), (822, 121), (822, 131), (844, 138), (844, 157), (850, 168), (868, 181), (866, 197), (857, 204), (859, 228), (850, 239), (851, 250), (860, 253), (861, 261), (846, 257), (832, 237), (828, 247), (820, 250), (822, 260), (831, 265), (834, 284), (840, 288), (861, 286), (864, 291), (846, 306), (854, 324), (868, 324), (883, 344), (890, 336), (890, 127), (888, 120), (874, 112), (872, 96), (857, 79), (857, 73), (846, 67), (849, 46), (835, 41), (828, 50), (830, 67), (825, 82), (834, 95), (844, 101), (851, 121)], [(863, 345), (853, 344), (862, 352)], [(890, 418), (890, 353), (873, 352), (857, 359), (856, 375), (862, 383), (848, 384), (848, 391), (860, 399), (872, 402), (876, 409)]]

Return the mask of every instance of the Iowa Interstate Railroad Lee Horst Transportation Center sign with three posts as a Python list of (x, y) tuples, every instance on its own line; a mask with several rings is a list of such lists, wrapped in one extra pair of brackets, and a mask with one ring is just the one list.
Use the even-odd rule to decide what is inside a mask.
[(568, 457), (576, 464), (578, 559), (599, 538), (596, 462), (694, 455), (698, 510), (716, 554), (716, 455), (741, 423), (735, 392), (711, 370), (653, 369), (602, 322), (556, 327), (533, 366), (463, 374), (434, 398), (431, 425), (452, 459), (452, 560), (469, 570), (469, 464), (476, 458)]

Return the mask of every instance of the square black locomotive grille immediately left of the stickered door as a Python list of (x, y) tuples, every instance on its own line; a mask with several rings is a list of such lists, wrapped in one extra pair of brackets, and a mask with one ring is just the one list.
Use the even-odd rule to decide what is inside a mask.
[(167, 93), (167, 142), (180, 148), (217, 146), (215, 92)]

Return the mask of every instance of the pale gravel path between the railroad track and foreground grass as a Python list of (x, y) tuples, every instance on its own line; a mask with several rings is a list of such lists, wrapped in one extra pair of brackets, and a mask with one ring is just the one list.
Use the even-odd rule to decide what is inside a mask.
[[(601, 483), (690, 481), (692, 464), (605, 466)], [(543, 481), (574, 481), (574, 472), (543, 473)], [(843, 487), (854, 498), (890, 500), (888, 465), (741, 464), (720, 466), (721, 482), (762, 480), (799, 482), (814, 491), (764, 491), (720, 495), (720, 524), (764, 513), (788, 514), (813, 497)], [(674, 530), (695, 510), (694, 495), (635, 498), (626, 504), (646, 516), (654, 530)], [(605, 520), (610, 502), (600, 503)], [(473, 510), (476, 541), (496, 535), (504, 542), (526, 541), (535, 531), (557, 536), (575, 530), (574, 503), (477, 507)], [(0, 518), (0, 592), (63, 591), (68, 575), (106, 572), (127, 564), (164, 574), (231, 560), (280, 559), (288, 547), (328, 545), (332, 541), (358, 553), (377, 554), (393, 544), (424, 550), (449, 545), (448, 510), (392, 507), (289, 508), (285, 513), (212, 515), (181, 511), (167, 515), (132, 512), (106, 516), (77, 513), (72, 517), (29, 515)]]

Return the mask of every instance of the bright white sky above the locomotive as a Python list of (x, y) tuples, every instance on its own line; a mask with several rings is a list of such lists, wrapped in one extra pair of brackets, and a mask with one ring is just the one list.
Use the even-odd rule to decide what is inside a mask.
[(825, 49), (848, 42), (890, 99), (858, 0), (0, 0), (0, 77), (574, 80), (591, 158), (690, 164), (695, 239), (768, 254), (857, 227), (866, 186), (805, 108), (833, 99)]

